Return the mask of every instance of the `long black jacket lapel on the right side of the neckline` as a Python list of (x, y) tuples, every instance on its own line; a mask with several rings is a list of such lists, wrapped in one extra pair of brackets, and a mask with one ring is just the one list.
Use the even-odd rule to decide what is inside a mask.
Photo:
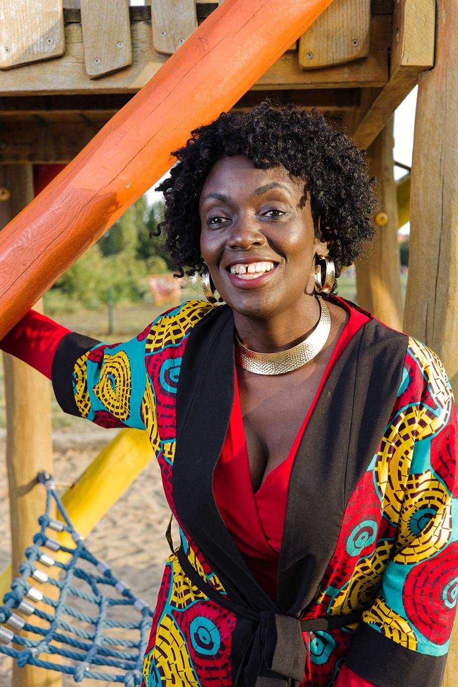
[(378, 449), (402, 379), (408, 338), (371, 319), (332, 369), (290, 477), (278, 600), (295, 615), (312, 600), (336, 547), (348, 499)]

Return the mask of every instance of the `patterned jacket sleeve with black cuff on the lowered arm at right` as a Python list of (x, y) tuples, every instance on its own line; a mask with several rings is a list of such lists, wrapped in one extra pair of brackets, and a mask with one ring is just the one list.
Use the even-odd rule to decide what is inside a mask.
[(396, 541), (347, 664), (380, 687), (440, 687), (458, 592), (457, 412), (442, 363), (415, 339), (399, 398), (415, 441), (412, 450), (400, 432), (391, 440), (405, 457), (404, 475), (387, 472), (400, 487)]

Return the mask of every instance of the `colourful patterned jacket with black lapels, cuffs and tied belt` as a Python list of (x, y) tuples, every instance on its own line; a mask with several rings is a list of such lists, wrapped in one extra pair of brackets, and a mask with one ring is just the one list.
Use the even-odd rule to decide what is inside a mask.
[(457, 414), (434, 353), (371, 319), (336, 362), (293, 466), (277, 602), (216, 508), (234, 394), (227, 306), (187, 302), (132, 341), (69, 334), (62, 408), (146, 427), (179, 521), (144, 662), (147, 687), (439, 687), (457, 601)]

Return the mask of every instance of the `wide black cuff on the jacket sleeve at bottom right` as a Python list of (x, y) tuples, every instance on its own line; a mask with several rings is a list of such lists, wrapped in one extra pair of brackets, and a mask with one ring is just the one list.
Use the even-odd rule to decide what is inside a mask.
[(360, 622), (347, 665), (377, 687), (441, 687), (446, 660), (406, 649)]

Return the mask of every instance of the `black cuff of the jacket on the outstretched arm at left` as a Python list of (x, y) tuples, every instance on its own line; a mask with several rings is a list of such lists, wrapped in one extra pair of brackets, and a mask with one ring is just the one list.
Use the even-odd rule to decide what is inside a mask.
[(57, 402), (65, 413), (81, 417), (73, 394), (73, 370), (75, 363), (100, 341), (71, 332), (63, 337), (52, 361), (51, 379)]

